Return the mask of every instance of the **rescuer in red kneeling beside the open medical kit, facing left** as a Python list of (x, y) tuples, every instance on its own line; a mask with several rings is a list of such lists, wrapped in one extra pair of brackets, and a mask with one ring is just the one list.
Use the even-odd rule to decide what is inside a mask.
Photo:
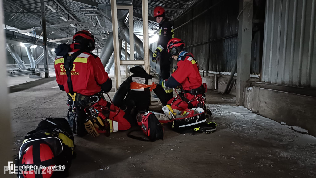
[(184, 42), (173, 38), (168, 42), (167, 49), (172, 58), (178, 61), (171, 77), (160, 82), (163, 88), (180, 88), (179, 97), (174, 97), (167, 102), (172, 109), (184, 110), (199, 107), (201, 103), (197, 98), (205, 93), (199, 65), (191, 53), (186, 52)]

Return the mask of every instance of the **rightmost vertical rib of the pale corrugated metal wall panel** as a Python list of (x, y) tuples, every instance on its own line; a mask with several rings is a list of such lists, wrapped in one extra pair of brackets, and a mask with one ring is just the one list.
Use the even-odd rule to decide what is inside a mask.
[(312, 56), (314, 45), (314, 30), (315, 30), (315, 0), (312, 3), (311, 28), (309, 30), (308, 58), (307, 58), (307, 85), (311, 86), (312, 73)]

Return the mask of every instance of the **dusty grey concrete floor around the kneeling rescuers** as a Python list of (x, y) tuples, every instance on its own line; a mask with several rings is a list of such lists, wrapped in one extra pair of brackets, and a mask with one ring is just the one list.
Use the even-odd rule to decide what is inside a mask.
[[(35, 82), (15, 86), (9, 94), (16, 150), (40, 120), (67, 116), (66, 94), (56, 81)], [(268, 119), (226, 112), (225, 107), (234, 105), (232, 95), (210, 91), (207, 99), (216, 132), (179, 134), (164, 125), (164, 140), (155, 142), (133, 140), (126, 132), (75, 137), (69, 177), (316, 177), (315, 138)]]

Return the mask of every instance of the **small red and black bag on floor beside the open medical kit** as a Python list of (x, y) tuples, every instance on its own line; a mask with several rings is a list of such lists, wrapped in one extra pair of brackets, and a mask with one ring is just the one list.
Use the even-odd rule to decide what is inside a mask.
[(127, 134), (128, 137), (142, 141), (155, 141), (163, 139), (163, 128), (155, 114), (139, 112), (137, 114), (137, 124), (141, 126), (141, 130), (145, 133), (148, 140), (131, 135), (131, 132), (135, 132), (136, 130), (129, 132)]

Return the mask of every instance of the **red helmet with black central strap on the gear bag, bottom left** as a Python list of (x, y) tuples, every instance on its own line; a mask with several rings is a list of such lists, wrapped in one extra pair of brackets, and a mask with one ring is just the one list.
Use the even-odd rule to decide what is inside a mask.
[[(38, 153), (38, 151), (36, 151), (37, 149), (39, 150), (39, 153)], [(33, 153), (35, 153), (36, 155), (33, 155)], [(47, 144), (44, 144), (44, 143), (41, 143), (39, 145), (32, 144), (29, 147), (27, 147), (27, 149), (22, 154), (23, 154), (23, 157), (21, 160), (21, 166), (28, 165), (28, 164), (40, 166), (41, 162), (49, 163), (50, 161), (52, 161), (51, 165), (42, 165), (42, 166), (54, 166), (55, 165), (53, 163), (54, 162), (53, 161), (54, 154), (52, 152), (51, 147), (48, 146)], [(54, 171), (53, 170), (48, 171), (48, 170), (49, 169), (42, 169), (41, 176), (43, 178), (50, 178), (52, 176)], [(26, 172), (27, 172), (27, 174), (22, 174), (22, 176), (24, 178), (35, 178), (34, 169), (28, 170)], [(44, 172), (45, 172), (45, 174), (43, 174)]]

